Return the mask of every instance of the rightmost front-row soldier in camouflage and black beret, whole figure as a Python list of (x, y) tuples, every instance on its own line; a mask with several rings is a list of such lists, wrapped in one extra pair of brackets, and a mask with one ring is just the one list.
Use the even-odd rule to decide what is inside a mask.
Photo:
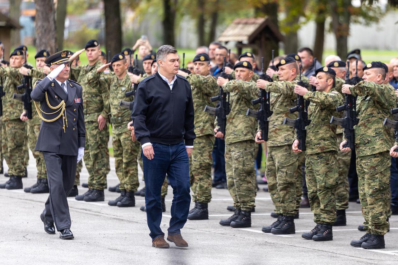
[[(365, 218), (366, 234), (359, 240), (351, 241), (353, 247), (366, 249), (384, 248), (384, 234), (387, 221), (388, 194), (390, 190), (390, 165), (388, 151), (392, 146), (391, 131), (382, 126), (384, 118), (390, 117), (390, 109), (396, 106), (394, 92), (382, 84), (386, 75), (386, 65), (371, 62), (363, 68), (363, 81), (355, 86), (344, 84), (342, 92), (357, 98), (357, 118), (355, 129), (355, 151), (357, 154), (358, 190), (362, 215)], [(347, 140), (340, 144), (344, 148)]]

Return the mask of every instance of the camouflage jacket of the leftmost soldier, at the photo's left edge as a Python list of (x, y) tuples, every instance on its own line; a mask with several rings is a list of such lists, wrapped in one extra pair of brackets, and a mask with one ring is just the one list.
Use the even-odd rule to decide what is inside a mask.
[(10, 121), (20, 119), (23, 111), (23, 102), (13, 99), (14, 93), (23, 94), (23, 90), (18, 90), (17, 86), (22, 84), (23, 75), (20, 74), (19, 68), (0, 67), (0, 76), (3, 78), (3, 116), (2, 121)]

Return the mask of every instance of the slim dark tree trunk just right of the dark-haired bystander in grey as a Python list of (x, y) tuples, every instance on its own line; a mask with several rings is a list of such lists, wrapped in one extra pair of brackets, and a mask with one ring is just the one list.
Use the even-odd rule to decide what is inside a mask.
[(314, 41), (314, 57), (322, 64), (322, 55), (325, 40), (325, 20), (326, 20), (326, 5), (325, 0), (318, 1), (318, 10), (316, 13), (315, 23), (315, 41)]

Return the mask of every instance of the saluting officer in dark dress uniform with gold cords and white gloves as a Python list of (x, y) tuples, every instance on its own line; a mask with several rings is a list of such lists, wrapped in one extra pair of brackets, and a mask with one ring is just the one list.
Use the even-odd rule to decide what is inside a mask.
[(76, 164), (86, 144), (82, 87), (68, 79), (68, 51), (51, 55), (45, 64), (51, 64), (51, 73), (37, 80), (31, 92), (42, 119), (35, 150), (43, 153), (50, 190), (40, 218), (48, 234), (55, 234), (55, 223), (61, 239), (72, 239), (66, 197), (73, 188)]

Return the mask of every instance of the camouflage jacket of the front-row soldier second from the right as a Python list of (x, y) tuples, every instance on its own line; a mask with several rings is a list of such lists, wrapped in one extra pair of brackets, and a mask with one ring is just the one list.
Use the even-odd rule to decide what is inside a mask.
[(306, 126), (306, 154), (337, 151), (336, 125), (330, 123), (330, 117), (341, 117), (341, 112), (337, 112), (336, 107), (343, 104), (343, 96), (332, 88), (329, 93), (307, 92), (304, 99), (310, 101), (308, 119), (311, 120)]

